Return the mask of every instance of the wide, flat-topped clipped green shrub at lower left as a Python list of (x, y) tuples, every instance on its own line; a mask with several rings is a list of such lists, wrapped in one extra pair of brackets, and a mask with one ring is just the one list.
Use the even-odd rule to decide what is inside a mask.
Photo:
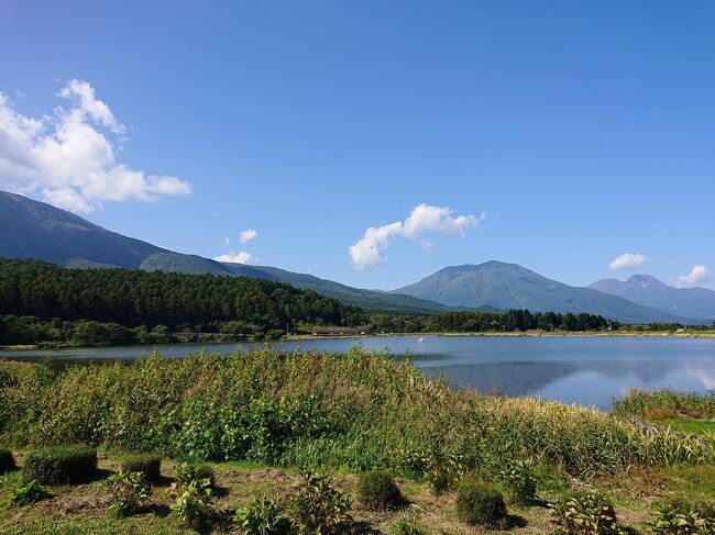
[(58, 446), (30, 452), (23, 479), (44, 484), (79, 483), (97, 470), (97, 450), (85, 446)]

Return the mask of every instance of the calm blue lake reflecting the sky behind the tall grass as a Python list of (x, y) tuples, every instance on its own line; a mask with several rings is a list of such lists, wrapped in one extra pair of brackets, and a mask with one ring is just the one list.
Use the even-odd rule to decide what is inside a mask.
[[(361, 337), (275, 343), (293, 352), (387, 349), (411, 354), (427, 374), (443, 372), (452, 384), (481, 392), (534, 395), (607, 409), (631, 388), (705, 392), (715, 389), (715, 339), (637, 336), (414, 336)], [(263, 344), (258, 344), (261, 347)], [(199, 350), (232, 353), (256, 344), (176, 344), (155, 349), (167, 357)], [(133, 359), (148, 346), (0, 352), (0, 358), (61, 361)]]

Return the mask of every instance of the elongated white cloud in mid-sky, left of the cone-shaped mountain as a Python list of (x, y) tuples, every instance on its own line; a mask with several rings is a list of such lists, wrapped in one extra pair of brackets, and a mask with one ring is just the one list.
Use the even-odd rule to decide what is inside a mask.
[(485, 213), (479, 218), (452, 214), (453, 210), (448, 207), (422, 203), (415, 207), (404, 222), (397, 221), (388, 225), (371, 226), (365, 231), (363, 237), (348, 249), (353, 267), (362, 270), (378, 265), (382, 261), (382, 253), (397, 237), (422, 239), (422, 248), (430, 249), (432, 243), (424, 239), (426, 235), (458, 234), (463, 236), (468, 229), (481, 226), (486, 219)]

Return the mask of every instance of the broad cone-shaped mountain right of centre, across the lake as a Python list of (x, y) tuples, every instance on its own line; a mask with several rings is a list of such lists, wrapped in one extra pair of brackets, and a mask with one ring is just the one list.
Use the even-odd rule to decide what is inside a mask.
[(693, 319), (653, 310), (592, 288), (568, 286), (516, 264), (501, 261), (450, 266), (393, 291), (447, 306), (590, 312), (626, 323), (693, 323)]

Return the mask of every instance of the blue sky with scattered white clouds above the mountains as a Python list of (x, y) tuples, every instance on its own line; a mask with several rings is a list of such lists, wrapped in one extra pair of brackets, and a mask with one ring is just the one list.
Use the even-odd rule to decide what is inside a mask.
[(0, 187), (366, 288), (490, 259), (713, 287), (713, 27), (705, 1), (6, 0)]

